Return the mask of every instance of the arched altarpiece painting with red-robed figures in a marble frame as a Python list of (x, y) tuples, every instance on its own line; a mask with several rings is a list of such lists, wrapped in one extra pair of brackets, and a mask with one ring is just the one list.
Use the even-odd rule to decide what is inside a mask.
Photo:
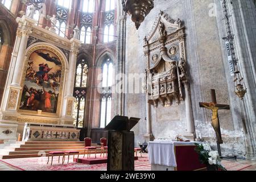
[(61, 61), (55, 53), (46, 49), (32, 52), (28, 59), (21, 110), (56, 113), (61, 68)]

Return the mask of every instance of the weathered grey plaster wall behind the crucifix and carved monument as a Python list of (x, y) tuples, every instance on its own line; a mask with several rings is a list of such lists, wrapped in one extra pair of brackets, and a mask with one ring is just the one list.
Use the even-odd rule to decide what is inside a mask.
[[(210, 125), (211, 113), (199, 107), (199, 102), (210, 102), (210, 89), (216, 90), (217, 102), (229, 104), (230, 110), (219, 111), (220, 125), (224, 144), (224, 155), (246, 154), (245, 137), (241, 118), (241, 101), (233, 92), (233, 77), (229, 72), (228, 60), (222, 33), (224, 22), (221, 21), (221, 2), (213, 0), (155, 0), (155, 7), (146, 17), (137, 31), (135, 25), (127, 18), (126, 32), (126, 73), (143, 73), (145, 60), (143, 38), (148, 35), (156, 16), (162, 10), (171, 18), (184, 21), (187, 34), (187, 62), (191, 81), (193, 118), (196, 133), (201, 133), (214, 145), (215, 133)], [(215, 10), (216, 9), (216, 10)], [(217, 14), (214, 14), (216, 13)], [(223, 19), (223, 18), (222, 18)], [(127, 75), (127, 74), (126, 74)], [(254, 82), (255, 84), (255, 82)], [(126, 94), (126, 115), (140, 117), (142, 122), (134, 129), (136, 138), (143, 142), (146, 133), (146, 96), (145, 94)], [(155, 138), (175, 139), (177, 134), (186, 134), (185, 104), (171, 107), (152, 107), (152, 133)], [(255, 113), (254, 113), (255, 117)], [(143, 130), (142, 130), (143, 128)]]

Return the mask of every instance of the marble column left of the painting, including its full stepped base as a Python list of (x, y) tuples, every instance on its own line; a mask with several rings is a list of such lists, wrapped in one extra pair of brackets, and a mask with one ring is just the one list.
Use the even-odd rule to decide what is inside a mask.
[(16, 35), (14, 51), (11, 57), (10, 69), (6, 80), (5, 92), (0, 110), (0, 139), (9, 142), (16, 140), (18, 129), (18, 104), (22, 94), (21, 78), (23, 75), (24, 63), (28, 36), (31, 34), (35, 20), (23, 16), (17, 18), (18, 31)]

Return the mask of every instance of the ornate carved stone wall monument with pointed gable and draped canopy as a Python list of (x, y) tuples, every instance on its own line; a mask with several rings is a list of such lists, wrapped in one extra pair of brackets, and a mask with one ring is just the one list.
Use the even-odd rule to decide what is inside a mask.
[(144, 38), (148, 102), (171, 106), (184, 100), (187, 83), (185, 27), (180, 19), (172, 19), (160, 11), (150, 34)]

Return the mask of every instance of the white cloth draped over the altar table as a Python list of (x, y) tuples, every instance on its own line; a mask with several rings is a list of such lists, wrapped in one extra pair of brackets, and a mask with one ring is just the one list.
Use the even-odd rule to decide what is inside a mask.
[(166, 142), (165, 140), (156, 140), (148, 143), (148, 156), (150, 164), (161, 166), (177, 167), (174, 147), (191, 146), (200, 142)]

